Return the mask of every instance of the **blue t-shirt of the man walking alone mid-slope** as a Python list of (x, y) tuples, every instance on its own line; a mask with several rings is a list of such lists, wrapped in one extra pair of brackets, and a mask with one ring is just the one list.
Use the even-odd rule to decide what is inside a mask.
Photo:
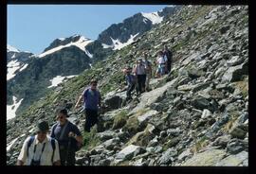
[(101, 100), (101, 93), (98, 90), (92, 90), (91, 87), (85, 88), (82, 92), (84, 108), (90, 110), (99, 110), (99, 103)]

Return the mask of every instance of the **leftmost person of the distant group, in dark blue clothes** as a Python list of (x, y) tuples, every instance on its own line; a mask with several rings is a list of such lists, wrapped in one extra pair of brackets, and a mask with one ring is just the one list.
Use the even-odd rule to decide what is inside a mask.
[(125, 69), (122, 70), (125, 74), (126, 83), (128, 85), (127, 92), (126, 92), (126, 101), (133, 99), (131, 93), (136, 87), (136, 77), (131, 74), (132, 68), (127, 66)]

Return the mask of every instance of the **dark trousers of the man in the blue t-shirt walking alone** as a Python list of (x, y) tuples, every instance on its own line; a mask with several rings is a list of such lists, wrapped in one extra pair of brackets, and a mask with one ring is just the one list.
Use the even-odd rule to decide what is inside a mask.
[(90, 132), (91, 128), (98, 123), (98, 111), (85, 109), (84, 131)]

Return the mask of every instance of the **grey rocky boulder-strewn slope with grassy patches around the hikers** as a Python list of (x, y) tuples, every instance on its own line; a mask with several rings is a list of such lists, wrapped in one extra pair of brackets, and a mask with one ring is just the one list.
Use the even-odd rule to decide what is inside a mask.
[[(248, 7), (184, 6), (71, 78), (8, 122), (8, 165), (40, 119), (53, 125), (62, 104), (80, 130), (82, 106), (75, 101), (91, 78), (104, 99), (101, 120), (82, 133), (77, 165), (248, 165)], [(147, 50), (150, 60), (167, 44), (172, 72), (153, 78), (152, 91), (124, 103), (121, 69)], [(134, 57), (131, 57), (133, 55)]]

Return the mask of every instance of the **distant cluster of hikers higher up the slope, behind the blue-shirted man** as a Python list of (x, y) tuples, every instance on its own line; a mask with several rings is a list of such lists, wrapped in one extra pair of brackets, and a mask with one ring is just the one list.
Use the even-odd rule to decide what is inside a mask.
[[(142, 58), (137, 59), (137, 63), (133, 66), (126, 66), (122, 72), (125, 74), (126, 83), (128, 85), (126, 92), (126, 101), (132, 99), (132, 92), (136, 89), (137, 96), (140, 96), (145, 91), (150, 91), (150, 79), (152, 78), (153, 64), (148, 60), (148, 54), (143, 53), (144, 60)], [(168, 49), (168, 46), (164, 46), (164, 50), (158, 51), (155, 65), (157, 69), (155, 72), (155, 78), (161, 78), (163, 75), (171, 72), (171, 65), (173, 60), (173, 54)]]

